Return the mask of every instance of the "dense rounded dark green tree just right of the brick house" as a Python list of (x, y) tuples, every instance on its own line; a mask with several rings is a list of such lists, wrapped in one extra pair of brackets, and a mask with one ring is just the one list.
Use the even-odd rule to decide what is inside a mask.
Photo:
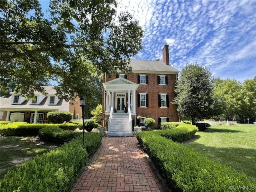
[(175, 86), (174, 104), (178, 112), (192, 119), (209, 118), (218, 112), (218, 102), (214, 103), (214, 82), (212, 74), (198, 63), (185, 66)]

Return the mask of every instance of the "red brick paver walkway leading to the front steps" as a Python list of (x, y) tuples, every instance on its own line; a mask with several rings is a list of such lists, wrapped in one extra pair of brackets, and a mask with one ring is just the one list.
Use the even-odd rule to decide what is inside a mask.
[(166, 192), (136, 137), (104, 137), (71, 192)]

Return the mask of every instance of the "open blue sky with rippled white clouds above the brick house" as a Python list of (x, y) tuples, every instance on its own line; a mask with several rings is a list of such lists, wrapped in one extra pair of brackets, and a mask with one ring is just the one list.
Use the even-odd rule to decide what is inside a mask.
[(169, 45), (170, 65), (208, 67), (214, 78), (244, 82), (256, 76), (256, 1), (122, 0), (144, 29), (143, 49), (132, 59), (162, 60)]

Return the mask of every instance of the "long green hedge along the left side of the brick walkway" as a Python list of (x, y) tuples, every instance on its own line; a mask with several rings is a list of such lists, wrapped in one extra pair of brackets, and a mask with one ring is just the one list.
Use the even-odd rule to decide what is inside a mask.
[(55, 150), (38, 155), (20, 167), (10, 170), (1, 180), (1, 192), (69, 192), (82, 168), (88, 153), (100, 146), (101, 133), (85, 133), (86, 152), (82, 135)]

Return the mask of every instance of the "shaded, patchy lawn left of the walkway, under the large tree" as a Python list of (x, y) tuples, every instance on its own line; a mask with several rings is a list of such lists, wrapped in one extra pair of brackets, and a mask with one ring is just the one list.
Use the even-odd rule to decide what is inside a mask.
[(0, 178), (24, 161), (57, 147), (56, 144), (40, 141), (36, 136), (4, 136), (0, 137), (0, 145)]

